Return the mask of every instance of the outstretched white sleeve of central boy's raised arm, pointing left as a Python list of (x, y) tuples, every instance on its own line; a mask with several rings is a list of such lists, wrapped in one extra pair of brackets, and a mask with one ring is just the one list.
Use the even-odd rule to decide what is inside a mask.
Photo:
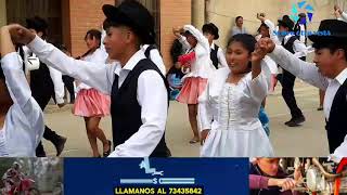
[(48, 66), (80, 80), (99, 91), (110, 94), (114, 80), (114, 65), (78, 61), (67, 56), (38, 36), (28, 44), (28, 48)]

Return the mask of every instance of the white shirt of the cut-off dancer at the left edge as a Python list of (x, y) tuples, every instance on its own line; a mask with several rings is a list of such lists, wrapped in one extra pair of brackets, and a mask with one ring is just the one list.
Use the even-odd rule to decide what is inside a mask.
[(7, 87), (13, 101), (2, 127), (2, 150), (11, 157), (35, 157), (44, 125), (40, 106), (31, 96), (31, 91), (22, 69), (22, 61), (16, 52), (1, 58)]

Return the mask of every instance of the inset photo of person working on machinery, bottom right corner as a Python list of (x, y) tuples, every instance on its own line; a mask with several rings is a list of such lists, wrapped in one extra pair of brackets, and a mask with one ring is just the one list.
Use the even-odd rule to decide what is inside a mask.
[(347, 158), (338, 164), (319, 157), (253, 158), (250, 195), (347, 194)]

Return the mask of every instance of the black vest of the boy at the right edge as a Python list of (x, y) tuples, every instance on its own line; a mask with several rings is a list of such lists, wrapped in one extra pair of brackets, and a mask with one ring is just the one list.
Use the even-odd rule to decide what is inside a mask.
[(343, 142), (347, 134), (347, 79), (342, 84), (335, 96), (326, 121), (326, 133), (330, 153), (333, 153)]

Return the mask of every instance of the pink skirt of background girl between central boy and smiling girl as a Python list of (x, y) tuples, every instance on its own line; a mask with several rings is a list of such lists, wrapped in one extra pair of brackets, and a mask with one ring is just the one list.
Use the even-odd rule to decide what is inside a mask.
[(183, 87), (177, 101), (185, 104), (197, 104), (198, 96), (204, 92), (207, 84), (206, 78), (189, 77), (185, 78)]

